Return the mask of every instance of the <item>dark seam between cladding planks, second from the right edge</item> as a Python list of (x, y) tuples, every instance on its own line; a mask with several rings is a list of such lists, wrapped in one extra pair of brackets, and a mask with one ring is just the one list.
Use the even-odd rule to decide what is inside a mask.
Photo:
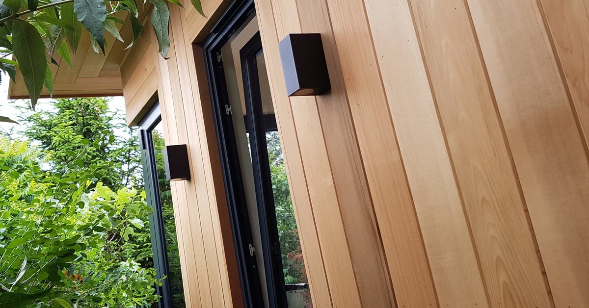
[(462, 0), (462, 1), (464, 1), (466, 15), (468, 16), (468, 22), (471, 26), (471, 33), (472, 33), (474, 42), (477, 46), (479, 61), (481, 61), (482, 71), (483, 71), (483, 74), (485, 75), (485, 81), (487, 82), (489, 94), (491, 95), (491, 101), (492, 101), (493, 107), (495, 109), (495, 116), (497, 117), (497, 119), (499, 121), (499, 123), (498, 123), (499, 130), (501, 131), (501, 134), (503, 136), (503, 141), (505, 143), (507, 155), (509, 157), (509, 163), (511, 164), (511, 168), (514, 173), (514, 177), (515, 177), (514, 180), (515, 180), (515, 183), (517, 184), (519, 197), (521, 199), (523, 210), (524, 210), (524, 215), (525, 215), (525, 218), (528, 222), (528, 227), (530, 228), (530, 236), (532, 238), (532, 243), (534, 244), (536, 256), (538, 258), (538, 263), (540, 265), (540, 274), (542, 276), (542, 279), (544, 280), (544, 284), (545, 284), (545, 288), (546, 288), (545, 291), (547, 292), (548, 300), (550, 301), (551, 306), (554, 307), (554, 299), (552, 298), (550, 282), (548, 281), (548, 277), (546, 275), (546, 270), (544, 268), (544, 261), (542, 261), (542, 254), (540, 253), (540, 246), (538, 246), (538, 240), (536, 238), (536, 233), (534, 231), (534, 225), (532, 224), (530, 212), (528, 211), (528, 204), (527, 204), (527, 201), (525, 200), (524, 191), (521, 186), (521, 181), (519, 180), (517, 166), (515, 165), (515, 161), (514, 161), (512, 152), (511, 152), (511, 147), (509, 146), (509, 140), (507, 138), (507, 133), (505, 132), (505, 125), (503, 124), (503, 119), (501, 118), (501, 112), (499, 112), (499, 107), (497, 105), (497, 98), (495, 97), (495, 91), (493, 90), (493, 85), (491, 84), (491, 78), (489, 77), (489, 72), (487, 69), (487, 63), (485, 62), (485, 58), (483, 57), (483, 54), (482, 54), (482, 48), (481, 48), (481, 44), (478, 39), (477, 29), (475, 28), (474, 22), (472, 21), (471, 9), (468, 5), (468, 0)]

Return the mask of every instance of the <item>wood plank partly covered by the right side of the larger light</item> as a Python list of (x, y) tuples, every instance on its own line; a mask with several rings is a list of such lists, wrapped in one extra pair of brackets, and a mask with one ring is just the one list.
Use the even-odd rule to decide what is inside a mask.
[(365, 307), (395, 306), (329, 13), (324, 1), (298, 0), (297, 9), (302, 32), (322, 35), (330, 71), (332, 88), (329, 94), (316, 97), (316, 111), (313, 111), (319, 112), (319, 124), (323, 130), (360, 299)]

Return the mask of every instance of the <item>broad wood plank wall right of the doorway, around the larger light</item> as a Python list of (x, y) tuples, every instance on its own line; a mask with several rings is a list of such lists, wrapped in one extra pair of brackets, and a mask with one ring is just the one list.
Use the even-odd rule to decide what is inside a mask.
[[(317, 306), (587, 306), (586, 5), (256, 0)], [(286, 97), (298, 32), (326, 95)]]

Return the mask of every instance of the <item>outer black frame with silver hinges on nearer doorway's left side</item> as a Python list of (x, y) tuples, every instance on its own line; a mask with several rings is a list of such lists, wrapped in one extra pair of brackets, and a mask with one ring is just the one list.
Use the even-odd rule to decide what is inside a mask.
[[(204, 41), (203, 51), (227, 206), (229, 207), (231, 233), (237, 256), (241, 293), (246, 307), (257, 308), (264, 306), (262, 287), (256, 256), (253, 252), (250, 253), (250, 247), (253, 247), (253, 238), (247, 204), (244, 201), (246, 195), (243, 185), (237, 185), (236, 181), (241, 179), (241, 169), (239, 157), (236, 156), (237, 145), (233, 122), (231, 117), (226, 115), (226, 107), (229, 107), (229, 95), (227, 94), (223, 62), (217, 61), (221, 54), (221, 47), (253, 14), (255, 14), (253, 0), (233, 1), (211, 29), (209, 37)], [(227, 142), (229, 140), (231, 142)]]

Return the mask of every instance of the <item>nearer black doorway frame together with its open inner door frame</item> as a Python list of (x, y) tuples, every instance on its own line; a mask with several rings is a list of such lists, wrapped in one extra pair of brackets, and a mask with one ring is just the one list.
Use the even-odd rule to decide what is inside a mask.
[[(229, 40), (237, 29), (255, 14), (253, 0), (235, 0), (220, 17), (217, 24), (211, 29), (209, 37), (203, 44), (204, 58), (209, 81), (211, 104), (213, 107), (213, 118), (216, 127), (217, 143), (223, 169), (224, 186), (227, 196), (227, 205), (233, 233), (234, 246), (237, 255), (237, 265), (240, 273), (241, 290), (246, 307), (263, 307), (262, 287), (260, 285), (259, 271), (257, 269), (256, 255), (250, 247), (253, 245), (252, 230), (250, 227), (249, 214), (245, 191), (241, 180), (241, 169), (237, 152), (236, 136), (234, 134), (233, 121), (229, 109), (229, 95), (227, 93), (226, 80), (223, 69), (223, 62), (220, 61), (220, 49)], [(256, 39), (257, 38), (257, 39)], [(262, 43), (259, 33), (241, 50), (241, 58), (246, 62), (243, 65), (244, 90), (246, 90), (246, 104), (256, 108), (255, 101), (261, 101), (259, 93), (259, 81), (257, 79), (256, 56), (262, 52)], [(253, 62), (252, 62), (253, 61)], [(247, 64), (249, 63), (249, 64)], [(247, 86), (246, 86), (247, 84)], [(257, 87), (256, 91), (251, 91)], [(266, 165), (254, 163), (254, 180), (256, 181), (256, 198), (263, 200), (258, 202), (260, 218), (260, 231), (262, 233), (262, 256), (264, 257), (264, 268), (266, 271), (266, 285), (268, 290), (270, 307), (286, 307), (286, 292), (284, 276), (282, 271), (282, 259), (280, 257), (280, 242), (276, 226), (276, 213), (272, 196), (272, 184), (269, 174), (264, 173), (267, 166), (267, 148), (264, 131), (275, 130), (276, 120), (272, 117), (262, 115), (261, 105), (259, 110), (248, 109), (245, 117), (246, 128), (250, 140), (258, 140), (252, 143), (252, 158), (254, 156), (266, 157)], [(260, 127), (261, 126), (261, 127)], [(260, 138), (264, 137), (263, 143)], [(264, 155), (265, 153), (265, 155)], [(259, 189), (260, 185), (270, 187), (270, 194)], [(271, 207), (271, 208), (270, 208)]]

